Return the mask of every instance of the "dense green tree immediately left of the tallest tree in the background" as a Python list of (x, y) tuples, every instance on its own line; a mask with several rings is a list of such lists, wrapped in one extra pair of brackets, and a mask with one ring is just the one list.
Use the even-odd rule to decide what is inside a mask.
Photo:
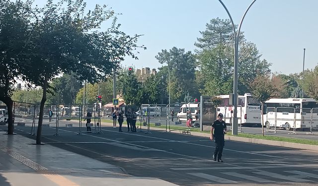
[[(170, 74), (170, 96), (172, 100), (182, 101), (189, 92), (194, 94), (196, 60), (194, 55), (184, 49), (173, 47), (169, 50), (161, 50), (156, 56), (159, 63), (166, 63)], [(167, 77), (167, 92), (169, 92), (169, 76)]]

